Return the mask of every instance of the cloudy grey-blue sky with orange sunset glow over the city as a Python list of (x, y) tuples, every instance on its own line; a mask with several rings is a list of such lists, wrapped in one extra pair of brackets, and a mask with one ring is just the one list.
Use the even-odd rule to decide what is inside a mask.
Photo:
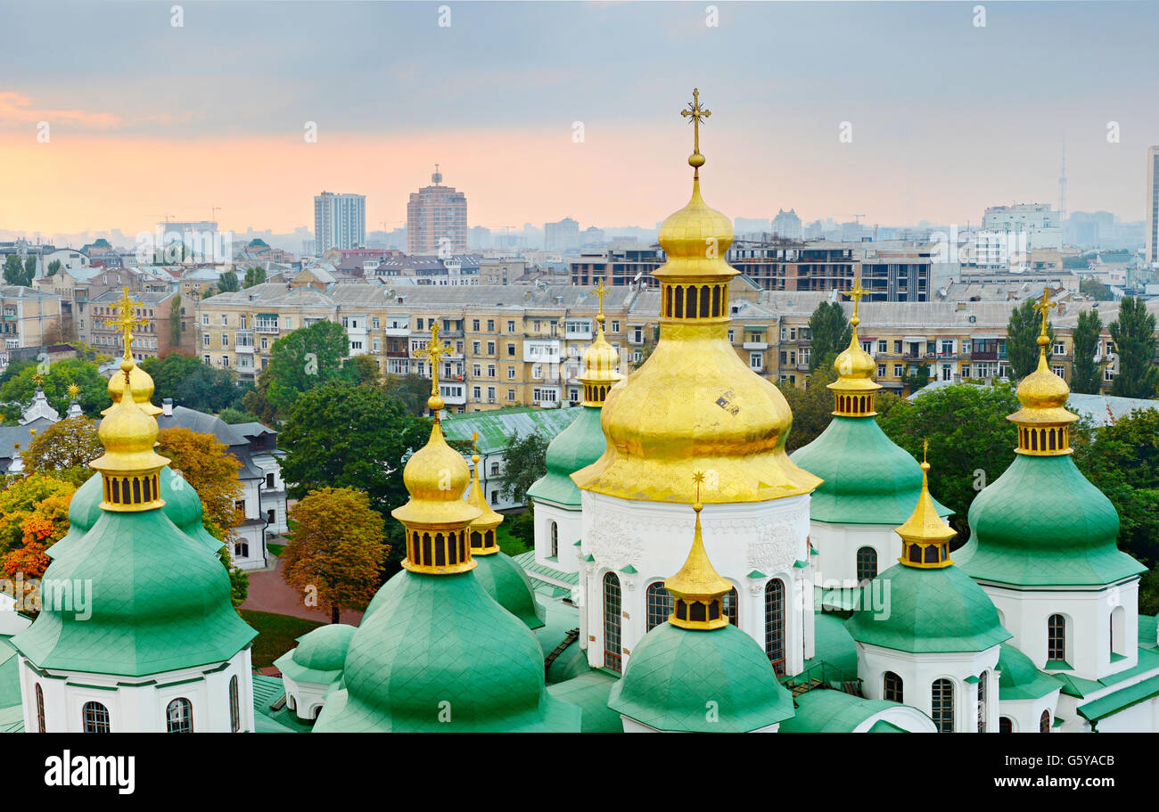
[(0, 229), (291, 232), (322, 190), (393, 229), (435, 163), (472, 226), (653, 227), (693, 87), (731, 218), (977, 224), (1057, 205), (1065, 144), (1067, 209), (1139, 220), (1159, 144), (1146, 1), (176, 5), (0, 0)]

